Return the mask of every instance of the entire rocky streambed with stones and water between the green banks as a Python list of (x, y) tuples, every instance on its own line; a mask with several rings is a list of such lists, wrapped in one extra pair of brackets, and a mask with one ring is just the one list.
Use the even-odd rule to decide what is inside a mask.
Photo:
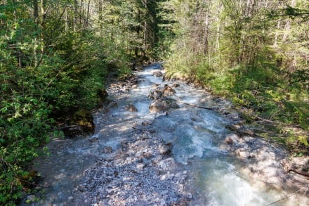
[[(37, 187), (40, 192), (27, 195), (21, 205), (228, 205), (233, 201), (236, 205), (267, 205), (277, 200), (275, 205), (309, 203), (304, 191), (309, 181), (284, 170), (282, 161), (289, 154), (283, 148), (257, 138), (230, 101), (197, 88), (190, 92), (200, 96), (195, 102), (180, 96), (186, 94), (181, 83), (157, 84), (157, 79), (150, 77), (162, 78), (163, 73), (150, 73), (147, 84), (135, 76), (111, 82), (107, 88), (109, 98), (101, 108), (93, 110), (95, 134), (49, 143), (50, 155), (40, 157), (33, 166), (42, 176)], [(131, 97), (132, 90), (135, 98)], [(211, 113), (204, 115), (204, 110)], [(179, 115), (182, 112), (184, 115)], [(192, 137), (192, 141), (186, 141), (185, 136)], [(220, 160), (210, 160), (208, 155), (218, 155)], [(238, 165), (222, 163), (222, 157), (232, 158)], [(304, 158), (293, 161), (308, 165)], [(210, 167), (202, 167), (204, 164)], [(218, 168), (213, 169), (213, 164)], [(202, 184), (200, 176), (211, 173), (215, 175), (205, 177), (206, 184)], [(229, 174), (234, 175), (231, 180), (227, 180)], [(248, 180), (239, 181), (238, 174)], [(208, 184), (208, 179), (215, 180)], [(223, 188), (219, 195), (211, 191), (213, 182), (221, 181), (249, 190), (247, 182), (256, 182), (260, 188), (268, 188), (265, 193), (272, 188), (280, 191), (265, 201), (259, 195), (252, 200), (224, 202), (223, 194), (230, 191)], [(215, 190), (220, 187), (213, 186)], [(237, 198), (246, 199), (250, 192), (243, 191)]]

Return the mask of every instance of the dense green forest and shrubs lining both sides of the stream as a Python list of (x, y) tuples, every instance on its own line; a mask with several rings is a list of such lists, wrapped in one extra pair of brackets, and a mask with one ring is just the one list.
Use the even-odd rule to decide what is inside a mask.
[(96, 108), (108, 78), (155, 60), (308, 153), (307, 0), (1, 0), (0, 204), (20, 199), (63, 115)]

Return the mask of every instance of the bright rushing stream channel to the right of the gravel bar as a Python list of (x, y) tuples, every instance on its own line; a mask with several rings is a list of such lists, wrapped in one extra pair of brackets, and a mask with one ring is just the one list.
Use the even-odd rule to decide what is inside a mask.
[[(129, 101), (136, 105), (136, 115), (142, 119), (150, 115), (148, 107), (151, 101), (147, 99), (147, 94), (151, 86), (173, 84), (162, 82), (161, 77), (152, 75), (160, 67), (159, 64), (150, 65), (136, 73), (142, 82), (138, 88), (130, 91)], [(180, 86), (174, 88), (176, 94), (171, 98), (178, 103), (204, 107), (213, 104), (203, 89), (188, 86), (184, 82), (177, 83)], [(244, 162), (221, 149), (224, 137), (230, 134), (225, 125), (231, 124), (232, 120), (213, 110), (181, 103), (179, 109), (168, 115), (156, 116), (153, 127), (164, 141), (173, 143), (173, 157), (190, 171), (199, 191), (199, 197), (193, 200), (192, 205), (269, 205), (288, 195), (239, 172), (241, 167), (245, 167)], [(297, 204), (285, 200), (273, 205)]]

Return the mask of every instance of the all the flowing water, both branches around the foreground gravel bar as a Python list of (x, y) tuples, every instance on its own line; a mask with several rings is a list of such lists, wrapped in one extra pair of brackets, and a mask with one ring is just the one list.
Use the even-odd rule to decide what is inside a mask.
[[(207, 108), (217, 105), (203, 89), (176, 82), (179, 86), (174, 88), (176, 94), (170, 98), (174, 98), (180, 108), (167, 114), (150, 113), (152, 100), (147, 95), (154, 88), (152, 86), (175, 83), (162, 82), (162, 77), (154, 77), (152, 73), (158, 70), (161, 70), (160, 64), (145, 67), (136, 72), (140, 81), (136, 89), (131, 89), (129, 94), (109, 97), (114, 98), (118, 106), (107, 113), (97, 112), (96, 132), (92, 137), (98, 137), (96, 143), (87, 139), (52, 142), (52, 155), (37, 165), (44, 174), (42, 186), (46, 188), (46, 197), (33, 205), (70, 205), (67, 201), (72, 202), (75, 197), (72, 187), (81, 184), (84, 171), (96, 162), (94, 157), (104, 158), (104, 146), (110, 146), (114, 151), (121, 150), (121, 141), (134, 134), (133, 127), (142, 122), (152, 123), (150, 127), (155, 134), (173, 144), (171, 155), (182, 165), (180, 170), (188, 171), (188, 182), (194, 190), (190, 205), (269, 205), (290, 195), (241, 172), (246, 162), (230, 155), (223, 147), (225, 136), (231, 133), (225, 126), (235, 124), (236, 120), (215, 110), (188, 105)], [(129, 103), (135, 105), (138, 112), (126, 111)], [(287, 198), (272, 205), (302, 205), (299, 202), (302, 201)]]

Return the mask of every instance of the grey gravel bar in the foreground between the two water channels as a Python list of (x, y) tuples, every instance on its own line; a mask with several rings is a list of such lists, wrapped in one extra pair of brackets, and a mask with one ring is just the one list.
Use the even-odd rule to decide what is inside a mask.
[(171, 148), (151, 131), (133, 134), (86, 170), (74, 204), (186, 205), (192, 198), (185, 191), (188, 174), (178, 170)]

